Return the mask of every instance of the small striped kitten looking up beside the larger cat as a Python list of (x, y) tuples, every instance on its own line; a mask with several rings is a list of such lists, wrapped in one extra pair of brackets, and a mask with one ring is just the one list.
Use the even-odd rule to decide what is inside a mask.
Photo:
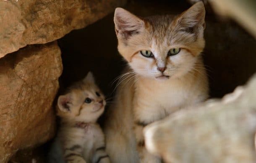
[(97, 119), (105, 107), (104, 95), (89, 72), (57, 102), (60, 129), (50, 152), (52, 163), (110, 163), (104, 134)]

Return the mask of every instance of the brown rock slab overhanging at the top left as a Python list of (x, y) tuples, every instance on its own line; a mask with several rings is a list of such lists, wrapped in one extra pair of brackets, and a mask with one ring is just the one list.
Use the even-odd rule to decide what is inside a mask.
[(54, 41), (124, 5), (126, 0), (2, 0), (0, 58), (28, 44)]

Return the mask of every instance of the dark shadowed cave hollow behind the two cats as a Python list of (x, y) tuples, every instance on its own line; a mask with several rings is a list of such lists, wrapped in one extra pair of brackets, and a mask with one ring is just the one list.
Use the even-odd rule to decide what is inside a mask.
[[(123, 8), (144, 17), (179, 14), (190, 6), (185, 0), (138, 0), (128, 1)], [(71, 31), (58, 40), (63, 60), (59, 92), (84, 78), (88, 71), (92, 71), (106, 98), (113, 97), (116, 82), (112, 82), (126, 65), (117, 50), (113, 15), (114, 13), (110, 13), (96, 23)], [(206, 46), (202, 55), (209, 78), (211, 98), (223, 97), (232, 92), (238, 85), (245, 84), (256, 72), (256, 41), (253, 36), (234, 21), (219, 19), (209, 5), (206, 5), (204, 38)], [(49, 144), (46, 143), (32, 152), (38, 156), (37, 160), (45, 158), (45, 149)]]

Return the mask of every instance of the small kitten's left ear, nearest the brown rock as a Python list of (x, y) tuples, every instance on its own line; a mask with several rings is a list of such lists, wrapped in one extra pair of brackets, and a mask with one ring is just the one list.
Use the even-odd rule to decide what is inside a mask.
[(58, 98), (57, 105), (58, 105), (60, 111), (70, 112), (70, 109), (72, 106), (71, 94), (68, 93), (65, 95), (60, 95)]

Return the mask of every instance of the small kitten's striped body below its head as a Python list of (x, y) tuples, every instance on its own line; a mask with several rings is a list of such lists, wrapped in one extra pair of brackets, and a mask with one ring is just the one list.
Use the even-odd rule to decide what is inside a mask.
[(96, 123), (62, 124), (51, 151), (50, 163), (110, 163), (104, 134)]

